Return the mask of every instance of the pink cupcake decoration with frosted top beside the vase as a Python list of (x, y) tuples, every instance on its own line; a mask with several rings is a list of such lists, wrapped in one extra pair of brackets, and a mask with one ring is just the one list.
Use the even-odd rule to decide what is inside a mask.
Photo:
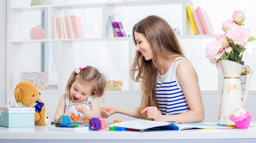
[(251, 123), (251, 114), (245, 108), (237, 108), (231, 113), (230, 120), (238, 129), (247, 129)]

